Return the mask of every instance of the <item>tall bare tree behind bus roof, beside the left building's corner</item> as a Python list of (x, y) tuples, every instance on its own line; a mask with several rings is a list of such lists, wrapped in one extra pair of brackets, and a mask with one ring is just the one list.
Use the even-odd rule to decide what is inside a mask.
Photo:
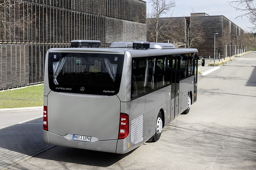
[(150, 0), (150, 3), (151, 12), (147, 14), (147, 39), (148, 41), (158, 42), (159, 36), (163, 35), (163, 29), (166, 25), (169, 25), (168, 20), (160, 22), (160, 18), (168, 13), (170, 13), (170, 16), (172, 15), (170, 11), (175, 7), (175, 1)]

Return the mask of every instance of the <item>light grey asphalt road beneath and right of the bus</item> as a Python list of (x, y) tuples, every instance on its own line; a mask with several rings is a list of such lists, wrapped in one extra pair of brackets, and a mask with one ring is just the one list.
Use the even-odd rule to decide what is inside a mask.
[(11, 169), (256, 169), (256, 52), (198, 79), (198, 98), (128, 154), (55, 146)]

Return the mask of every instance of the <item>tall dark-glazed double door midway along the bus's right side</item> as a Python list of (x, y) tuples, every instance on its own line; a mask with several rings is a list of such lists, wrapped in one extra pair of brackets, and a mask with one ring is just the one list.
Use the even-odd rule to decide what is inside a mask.
[(180, 56), (173, 57), (173, 76), (172, 76), (172, 95), (174, 95), (174, 103), (171, 106), (174, 107), (174, 117), (178, 116), (179, 105), (179, 81), (180, 81)]

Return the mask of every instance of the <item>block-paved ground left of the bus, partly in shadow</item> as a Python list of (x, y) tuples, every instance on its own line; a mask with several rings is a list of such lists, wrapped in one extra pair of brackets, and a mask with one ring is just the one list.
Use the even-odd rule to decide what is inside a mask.
[(8, 169), (53, 147), (43, 143), (42, 122), (41, 117), (0, 129), (0, 170)]

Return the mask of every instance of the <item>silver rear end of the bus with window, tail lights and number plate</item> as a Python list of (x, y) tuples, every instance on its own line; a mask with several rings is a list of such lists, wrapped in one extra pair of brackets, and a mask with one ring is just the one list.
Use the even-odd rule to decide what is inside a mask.
[(126, 102), (125, 63), (124, 50), (49, 49), (45, 59), (44, 143), (128, 152), (124, 145), (129, 145), (129, 116), (125, 111), (120, 113), (121, 100)]

